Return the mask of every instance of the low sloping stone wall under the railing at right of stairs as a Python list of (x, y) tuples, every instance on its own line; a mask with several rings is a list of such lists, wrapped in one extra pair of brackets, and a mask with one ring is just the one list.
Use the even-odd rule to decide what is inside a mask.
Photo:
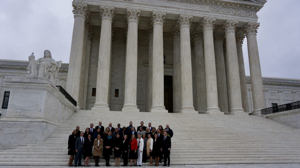
[(280, 123), (300, 128), (300, 109), (263, 115), (263, 117)]

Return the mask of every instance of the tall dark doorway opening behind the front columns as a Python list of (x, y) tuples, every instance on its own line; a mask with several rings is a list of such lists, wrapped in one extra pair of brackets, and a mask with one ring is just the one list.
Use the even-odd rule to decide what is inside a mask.
[(173, 76), (164, 76), (164, 106), (173, 113)]

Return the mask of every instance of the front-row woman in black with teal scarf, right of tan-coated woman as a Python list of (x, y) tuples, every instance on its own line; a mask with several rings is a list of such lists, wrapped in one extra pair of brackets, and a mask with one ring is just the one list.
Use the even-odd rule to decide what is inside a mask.
[(103, 135), (103, 157), (105, 159), (106, 166), (110, 166), (110, 155), (113, 155), (113, 136), (111, 131), (108, 131), (107, 135)]

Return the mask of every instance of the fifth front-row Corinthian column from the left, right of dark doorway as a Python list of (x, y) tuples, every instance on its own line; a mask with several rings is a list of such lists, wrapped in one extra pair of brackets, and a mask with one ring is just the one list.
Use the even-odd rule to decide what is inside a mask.
[(193, 106), (192, 56), (190, 51), (190, 25), (193, 16), (180, 14), (180, 72), (181, 113), (198, 113)]

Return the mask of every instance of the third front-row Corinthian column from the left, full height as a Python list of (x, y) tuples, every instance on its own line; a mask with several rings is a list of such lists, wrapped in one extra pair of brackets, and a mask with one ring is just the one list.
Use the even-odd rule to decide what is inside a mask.
[(122, 111), (140, 111), (137, 108), (137, 25), (140, 13), (141, 10), (127, 8), (125, 97)]

